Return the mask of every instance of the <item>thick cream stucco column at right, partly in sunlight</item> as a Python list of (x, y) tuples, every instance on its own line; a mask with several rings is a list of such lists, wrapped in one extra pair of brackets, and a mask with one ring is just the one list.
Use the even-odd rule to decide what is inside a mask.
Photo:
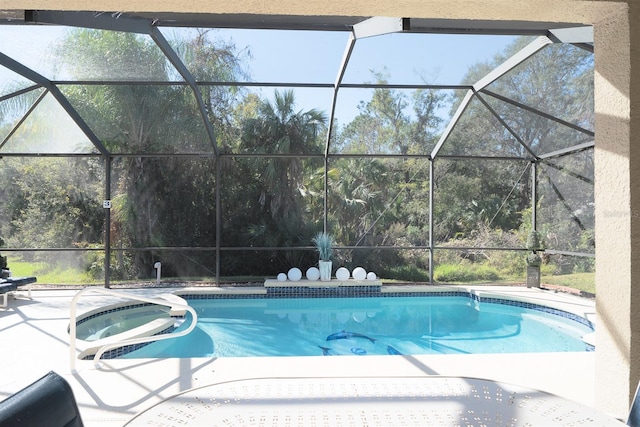
[(630, 50), (640, 40), (630, 22), (640, 17), (624, 8), (594, 26), (595, 401), (622, 418), (640, 379), (640, 79)]

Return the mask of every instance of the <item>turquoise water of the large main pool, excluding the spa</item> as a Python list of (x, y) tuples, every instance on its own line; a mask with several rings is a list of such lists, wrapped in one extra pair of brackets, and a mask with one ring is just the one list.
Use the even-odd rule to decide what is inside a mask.
[[(190, 300), (198, 325), (124, 358), (590, 351), (587, 324), (469, 297)], [(189, 322), (184, 322), (186, 327)], [(587, 322), (588, 323), (588, 322)]]

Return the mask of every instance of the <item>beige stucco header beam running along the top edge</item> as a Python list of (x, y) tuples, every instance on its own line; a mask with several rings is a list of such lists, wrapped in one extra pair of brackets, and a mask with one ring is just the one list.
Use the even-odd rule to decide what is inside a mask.
[[(403, 16), (443, 19), (501, 19), (595, 23), (627, 1), (577, 0), (236, 0), (213, 2), (150, 0), (2, 0), (2, 9), (167, 11), (284, 15)], [(107, 6), (108, 5), (108, 6)]]

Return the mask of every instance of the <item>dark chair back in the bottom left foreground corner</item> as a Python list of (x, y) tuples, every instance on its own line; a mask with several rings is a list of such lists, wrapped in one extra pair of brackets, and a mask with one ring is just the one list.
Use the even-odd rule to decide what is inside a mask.
[(51, 371), (0, 402), (0, 427), (83, 427), (69, 383)]

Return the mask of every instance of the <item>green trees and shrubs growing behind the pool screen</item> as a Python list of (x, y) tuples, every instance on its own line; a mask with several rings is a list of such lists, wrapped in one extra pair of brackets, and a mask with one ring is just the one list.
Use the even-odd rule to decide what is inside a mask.
[[(477, 81), (524, 43), (477, 64), (465, 80)], [(250, 78), (248, 54), (207, 31), (172, 45), (199, 81)], [(353, 120), (333, 124), (326, 162), (328, 113), (299, 109), (292, 90), (263, 97), (241, 85), (202, 84), (207, 128), (193, 89), (151, 40), (74, 30), (57, 52), (60, 69), (76, 78), (163, 84), (64, 87), (113, 160), (3, 158), (0, 234), (12, 247), (93, 249), (102, 247), (108, 227), (113, 278), (149, 276), (156, 260), (165, 275), (215, 275), (217, 245), (223, 275), (306, 268), (317, 262), (310, 242), (323, 229), (325, 209), (340, 264), (416, 281), (428, 279), (430, 262), (443, 281), (517, 276), (526, 253), (515, 249), (525, 247), (532, 227), (533, 166), (525, 156), (582, 144), (590, 136), (578, 128), (593, 129), (592, 55), (571, 45), (544, 49), (478, 93), (435, 159), (427, 155), (465, 94), (386, 88), (386, 70), (374, 70), (378, 88)], [(2, 104), (5, 130), (36, 95)], [(5, 149), (24, 150), (43, 137), (46, 114), (38, 111)], [(68, 140), (67, 147), (87, 150), (87, 141)], [(549, 156), (537, 174), (538, 228), (549, 248), (593, 252), (592, 150)], [(107, 225), (101, 201), (108, 182)], [(59, 254), (24, 256), (55, 264)], [(98, 254), (79, 262), (96, 277), (103, 274)], [(593, 267), (589, 258), (567, 259), (558, 261), (559, 271)], [(472, 267), (456, 267), (464, 264)]]

